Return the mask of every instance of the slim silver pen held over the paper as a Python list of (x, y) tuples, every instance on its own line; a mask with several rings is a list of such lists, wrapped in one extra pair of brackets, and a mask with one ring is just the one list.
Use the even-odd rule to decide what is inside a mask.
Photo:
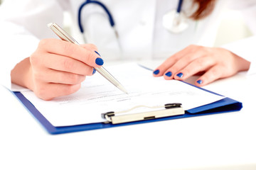
[[(57, 23), (48, 23), (48, 27), (51, 30), (53, 30), (53, 32), (55, 34), (57, 34), (61, 40), (65, 40), (68, 42), (72, 42), (76, 45), (80, 45), (73, 37), (71, 37), (68, 33), (66, 33), (65, 30), (63, 30), (63, 28), (60, 28), (60, 26), (58, 26)], [(108, 81), (110, 81), (112, 84), (114, 84), (114, 86), (116, 86), (119, 90), (128, 94), (127, 91), (124, 89), (124, 86), (122, 86), (122, 84), (120, 84), (119, 81), (117, 81), (117, 79), (115, 79), (110, 74), (110, 72), (107, 72), (107, 70), (104, 67), (99, 67), (99, 68), (94, 67), (94, 68), (97, 70), (97, 72), (102, 74), (103, 77), (105, 77)]]

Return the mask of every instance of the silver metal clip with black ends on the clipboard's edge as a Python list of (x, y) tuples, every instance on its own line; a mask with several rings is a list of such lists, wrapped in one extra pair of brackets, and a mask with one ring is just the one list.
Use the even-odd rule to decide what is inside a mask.
[[(127, 113), (136, 108), (152, 108), (154, 111), (146, 111), (142, 113)], [(156, 108), (162, 108), (156, 110)], [(156, 118), (164, 118), (174, 115), (183, 115), (185, 113), (184, 109), (181, 107), (181, 103), (167, 103), (164, 106), (135, 106), (126, 111), (119, 112), (107, 112), (102, 113), (102, 118), (106, 119), (105, 123), (119, 124), (119, 123), (129, 123), (141, 120), (150, 120)]]

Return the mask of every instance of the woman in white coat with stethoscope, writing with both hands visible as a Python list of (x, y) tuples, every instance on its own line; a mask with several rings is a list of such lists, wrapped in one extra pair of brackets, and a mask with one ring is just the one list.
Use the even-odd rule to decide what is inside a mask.
[[(255, 18), (255, 0), (231, 2), (247, 12), (248, 21)], [(255, 38), (241, 46), (212, 47), (226, 4), (228, 0), (5, 0), (0, 8), (1, 84), (11, 87), (13, 82), (50, 100), (78, 91), (85, 77), (95, 73), (92, 67), (105, 60), (158, 58), (167, 60), (154, 70), (155, 77), (183, 80), (203, 72), (198, 86), (230, 77), (250, 68)], [(58, 40), (47, 28), (51, 22), (62, 26), (65, 11), (73, 18), (71, 34), (85, 45)]]

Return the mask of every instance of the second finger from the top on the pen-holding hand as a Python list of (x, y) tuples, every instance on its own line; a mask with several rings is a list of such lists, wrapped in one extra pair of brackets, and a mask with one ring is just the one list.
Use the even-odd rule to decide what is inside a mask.
[(80, 62), (74, 60), (70, 57), (65, 57), (61, 55), (48, 54), (43, 58), (43, 65), (49, 69), (54, 69), (62, 72), (70, 72), (73, 74), (80, 74), (83, 76), (92, 75), (93, 68)]

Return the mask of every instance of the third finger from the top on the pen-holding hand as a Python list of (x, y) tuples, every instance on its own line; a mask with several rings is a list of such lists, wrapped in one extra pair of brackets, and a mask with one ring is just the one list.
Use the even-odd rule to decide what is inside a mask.
[(44, 74), (41, 74), (40, 81), (54, 84), (80, 84), (85, 81), (85, 76), (73, 74), (70, 72), (60, 72), (53, 69), (47, 69)]

